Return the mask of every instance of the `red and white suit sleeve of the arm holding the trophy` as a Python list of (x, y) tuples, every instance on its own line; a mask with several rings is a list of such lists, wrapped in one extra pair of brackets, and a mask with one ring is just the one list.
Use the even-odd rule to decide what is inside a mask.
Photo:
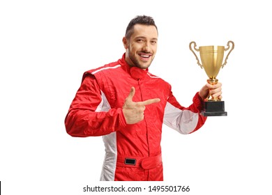
[(190, 134), (199, 130), (206, 121), (206, 116), (200, 115), (202, 103), (202, 99), (196, 93), (190, 107), (182, 107), (170, 92), (163, 123), (181, 134)]

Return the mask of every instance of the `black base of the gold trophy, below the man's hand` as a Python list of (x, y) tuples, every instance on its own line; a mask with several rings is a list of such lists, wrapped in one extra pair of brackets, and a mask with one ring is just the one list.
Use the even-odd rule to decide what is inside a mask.
[(204, 110), (200, 113), (203, 116), (227, 116), (224, 101), (204, 102)]

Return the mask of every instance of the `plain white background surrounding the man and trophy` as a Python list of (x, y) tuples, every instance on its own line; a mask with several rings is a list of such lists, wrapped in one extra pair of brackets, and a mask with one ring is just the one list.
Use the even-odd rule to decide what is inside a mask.
[(86, 194), (86, 185), (109, 185), (98, 182), (102, 138), (70, 137), (64, 118), (83, 72), (121, 58), (136, 15), (156, 21), (149, 70), (172, 84), (183, 106), (207, 79), (189, 42), (235, 43), (218, 75), (228, 116), (210, 117), (190, 135), (164, 126), (165, 182), (155, 184), (189, 185), (188, 194), (271, 194), (272, 14), (264, 0), (0, 1), (2, 193)]

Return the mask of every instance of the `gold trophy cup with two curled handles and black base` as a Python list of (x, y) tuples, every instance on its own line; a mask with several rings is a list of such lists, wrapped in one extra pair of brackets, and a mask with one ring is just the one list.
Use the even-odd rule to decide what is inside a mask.
[[(230, 49), (229, 43), (232, 43), (232, 47)], [(199, 59), (197, 54), (192, 50), (192, 45), (196, 52), (199, 52), (200, 59), (202, 64), (199, 63)], [(224, 67), (227, 64), (227, 58), (229, 57), (230, 52), (234, 49), (234, 42), (229, 40), (227, 42), (227, 48), (224, 46), (202, 46), (197, 49), (197, 44), (192, 41), (189, 44), (190, 50), (192, 54), (195, 55), (197, 59), (197, 64), (200, 68), (204, 68), (206, 75), (208, 75), (209, 79), (207, 79), (209, 84), (217, 84), (218, 79), (216, 79), (220, 68)], [(230, 50), (229, 50), (230, 49)], [(227, 56), (225, 57), (225, 62), (222, 64), (224, 59), (224, 53), (227, 52)], [(209, 95), (208, 98), (204, 100), (204, 109), (201, 112), (203, 116), (227, 116), (227, 112), (225, 111), (225, 103), (221, 101), (219, 98), (213, 98)]]

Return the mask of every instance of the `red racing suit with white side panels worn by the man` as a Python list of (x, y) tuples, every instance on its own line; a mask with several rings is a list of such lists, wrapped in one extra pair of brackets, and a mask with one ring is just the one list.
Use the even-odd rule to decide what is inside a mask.
[[(146, 105), (144, 120), (128, 125), (122, 107), (135, 87), (134, 102), (160, 98)], [(65, 125), (73, 137), (103, 136), (105, 160), (100, 180), (163, 180), (160, 140), (162, 125), (181, 134), (202, 127), (202, 100), (198, 93), (190, 107), (182, 107), (171, 86), (148, 70), (130, 68), (122, 59), (84, 72), (70, 105)]]

